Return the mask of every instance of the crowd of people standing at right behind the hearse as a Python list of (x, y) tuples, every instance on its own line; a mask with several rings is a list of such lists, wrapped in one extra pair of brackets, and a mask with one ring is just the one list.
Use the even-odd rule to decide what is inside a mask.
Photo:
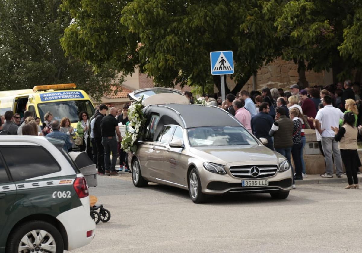
[[(190, 92), (184, 94), (193, 99)], [(357, 138), (358, 132), (362, 134), (361, 97), (359, 83), (346, 80), (326, 87), (301, 89), (294, 84), (288, 90), (241, 90), (236, 96), (227, 94), (225, 101), (209, 94), (201, 99), (231, 113), (257, 138), (266, 138), (265, 146), (284, 155), (290, 164), (292, 157), (294, 180), (307, 177), (303, 159), (305, 129), (315, 129), (326, 166), (321, 177), (333, 177), (333, 164), (336, 176), (342, 177), (343, 163), (348, 177), (345, 188), (350, 189), (359, 188), (357, 173), (361, 162)]]

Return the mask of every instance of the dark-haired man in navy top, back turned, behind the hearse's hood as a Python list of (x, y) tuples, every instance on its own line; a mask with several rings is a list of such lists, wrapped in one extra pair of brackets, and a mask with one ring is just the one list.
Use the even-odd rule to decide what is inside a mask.
[(268, 144), (265, 146), (274, 150), (273, 139), (269, 135), (269, 130), (273, 126), (274, 120), (273, 117), (269, 115), (269, 111), (269, 103), (261, 103), (259, 105), (259, 113), (251, 118), (251, 129), (257, 138), (266, 138)]

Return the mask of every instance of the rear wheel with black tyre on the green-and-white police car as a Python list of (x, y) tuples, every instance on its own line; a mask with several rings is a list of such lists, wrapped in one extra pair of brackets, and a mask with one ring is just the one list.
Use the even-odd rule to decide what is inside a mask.
[(21, 224), (9, 235), (6, 252), (63, 253), (64, 243), (62, 235), (52, 224), (33, 220)]

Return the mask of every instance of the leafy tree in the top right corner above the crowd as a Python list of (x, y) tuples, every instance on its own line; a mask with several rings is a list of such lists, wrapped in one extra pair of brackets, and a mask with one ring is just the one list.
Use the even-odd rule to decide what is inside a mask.
[[(361, 67), (362, 58), (356, 53), (362, 52), (360, 5), (361, 1), (271, 0), (264, 4), (264, 13), (275, 17), (283, 59), (293, 60), (299, 70), (333, 68), (337, 82), (350, 77), (351, 69)], [(353, 36), (358, 36), (359, 42)]]

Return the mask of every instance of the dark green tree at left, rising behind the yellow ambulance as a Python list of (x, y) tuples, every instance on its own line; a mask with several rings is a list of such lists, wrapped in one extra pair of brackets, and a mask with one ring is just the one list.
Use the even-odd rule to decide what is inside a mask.
[[(0, 89), (29, 89), (34, 85), (74, 82), (93, 99), (110, 90), (115, 71), (65, 57), (59, 39), (71, 23), (61, 12), (61, 0), (0, 2)], [(106, 65), (105, 65), (106, 67)]]

